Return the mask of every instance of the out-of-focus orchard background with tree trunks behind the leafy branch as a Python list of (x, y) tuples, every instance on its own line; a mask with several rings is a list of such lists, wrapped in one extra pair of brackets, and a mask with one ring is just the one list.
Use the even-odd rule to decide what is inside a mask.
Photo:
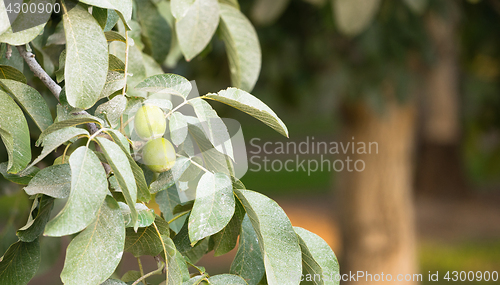
[[(322, 236), (342, 272), (422, 273), (423, 284), (448, 284), (446, 271), (499, 271), (500, 1), (239, 2), (262, 48), (252, 94), (290, 131), (286, 139), (214, 103), (221, 116), (242, 124), (247, 150), (255, 150), (253, 138), (260, 145), (308, 137), (378, 143), (378, 154), (347, 154), (365, 162), (362, 172), (249, 171), (242, 179), (247, 188), (276, 199), (294, 226)], [(227, 60), (214, 37), (189, 63), (174, 64), (175, 55), (169, 56), (164, 70), (195, 80), (205, 94), (230, 86)], [(260, 155), (282, 162), (295, 157)], [(18, 185), (2, 180), (0, 191), (2, 255), (30, 202)], [(40, 278), (30, 284), (58, 284), (58, 274), (47, 268), (62, 267), (61, 245), (48, 239), (42, 251)], [(200, 264), (214, 274), (231, 260), (208, 256)], [(441, 281), (428, 282), (429, 271), (439, 271)]]

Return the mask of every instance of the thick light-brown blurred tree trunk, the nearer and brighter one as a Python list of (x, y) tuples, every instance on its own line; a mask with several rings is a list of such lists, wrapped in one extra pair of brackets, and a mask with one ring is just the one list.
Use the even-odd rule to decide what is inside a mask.
[[(413, 207), (415, 106), (388, 102), (383, 114), (359, 104), (346, 110), (344, 142), (377, 142), (378, 154), (349, 153), (361, 159), (362, 172), (339, 173), (342, 273), (372, 275), (417, 273)], [(374, 284), (362, 278), (342, 284)], [(375, 282), (378, 283), (378, 282)], [(416, 284), (415, 282), (414, 284)], [(411, 284), (411, 282), (405, 282)]]

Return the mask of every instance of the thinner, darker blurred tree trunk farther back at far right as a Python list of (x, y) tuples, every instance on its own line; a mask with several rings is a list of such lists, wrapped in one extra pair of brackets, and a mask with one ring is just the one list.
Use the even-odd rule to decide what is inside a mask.
[(466, 195), (460, 159), (458, 15), (448, 2), (447, 15), (429, 13), (426, 26), (435, 62), (425, 73), (421, 104), (421, 143), (417, 193), (446, 198)]

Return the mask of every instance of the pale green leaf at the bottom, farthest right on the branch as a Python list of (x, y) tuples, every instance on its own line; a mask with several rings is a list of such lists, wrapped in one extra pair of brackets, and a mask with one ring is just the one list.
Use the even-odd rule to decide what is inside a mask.
[(302, 250), (302, 263), (304, 268), (311, 275), (329, 276), (314, 284), (338, 285), (334, 276), (340, 274), (337, 257), (330, 246), (318, 235), (303, 228), (293, 228), (299, 237), (300, 248)]

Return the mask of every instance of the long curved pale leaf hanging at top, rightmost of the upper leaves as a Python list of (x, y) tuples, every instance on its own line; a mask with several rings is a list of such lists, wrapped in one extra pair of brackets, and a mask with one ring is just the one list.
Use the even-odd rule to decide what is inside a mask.
[(240, 10), (220, 4), (220, 35), (226, 45), (231, 81), (234, 86), (252, 91), (260, 73), (261, 50), (257, 33)]

